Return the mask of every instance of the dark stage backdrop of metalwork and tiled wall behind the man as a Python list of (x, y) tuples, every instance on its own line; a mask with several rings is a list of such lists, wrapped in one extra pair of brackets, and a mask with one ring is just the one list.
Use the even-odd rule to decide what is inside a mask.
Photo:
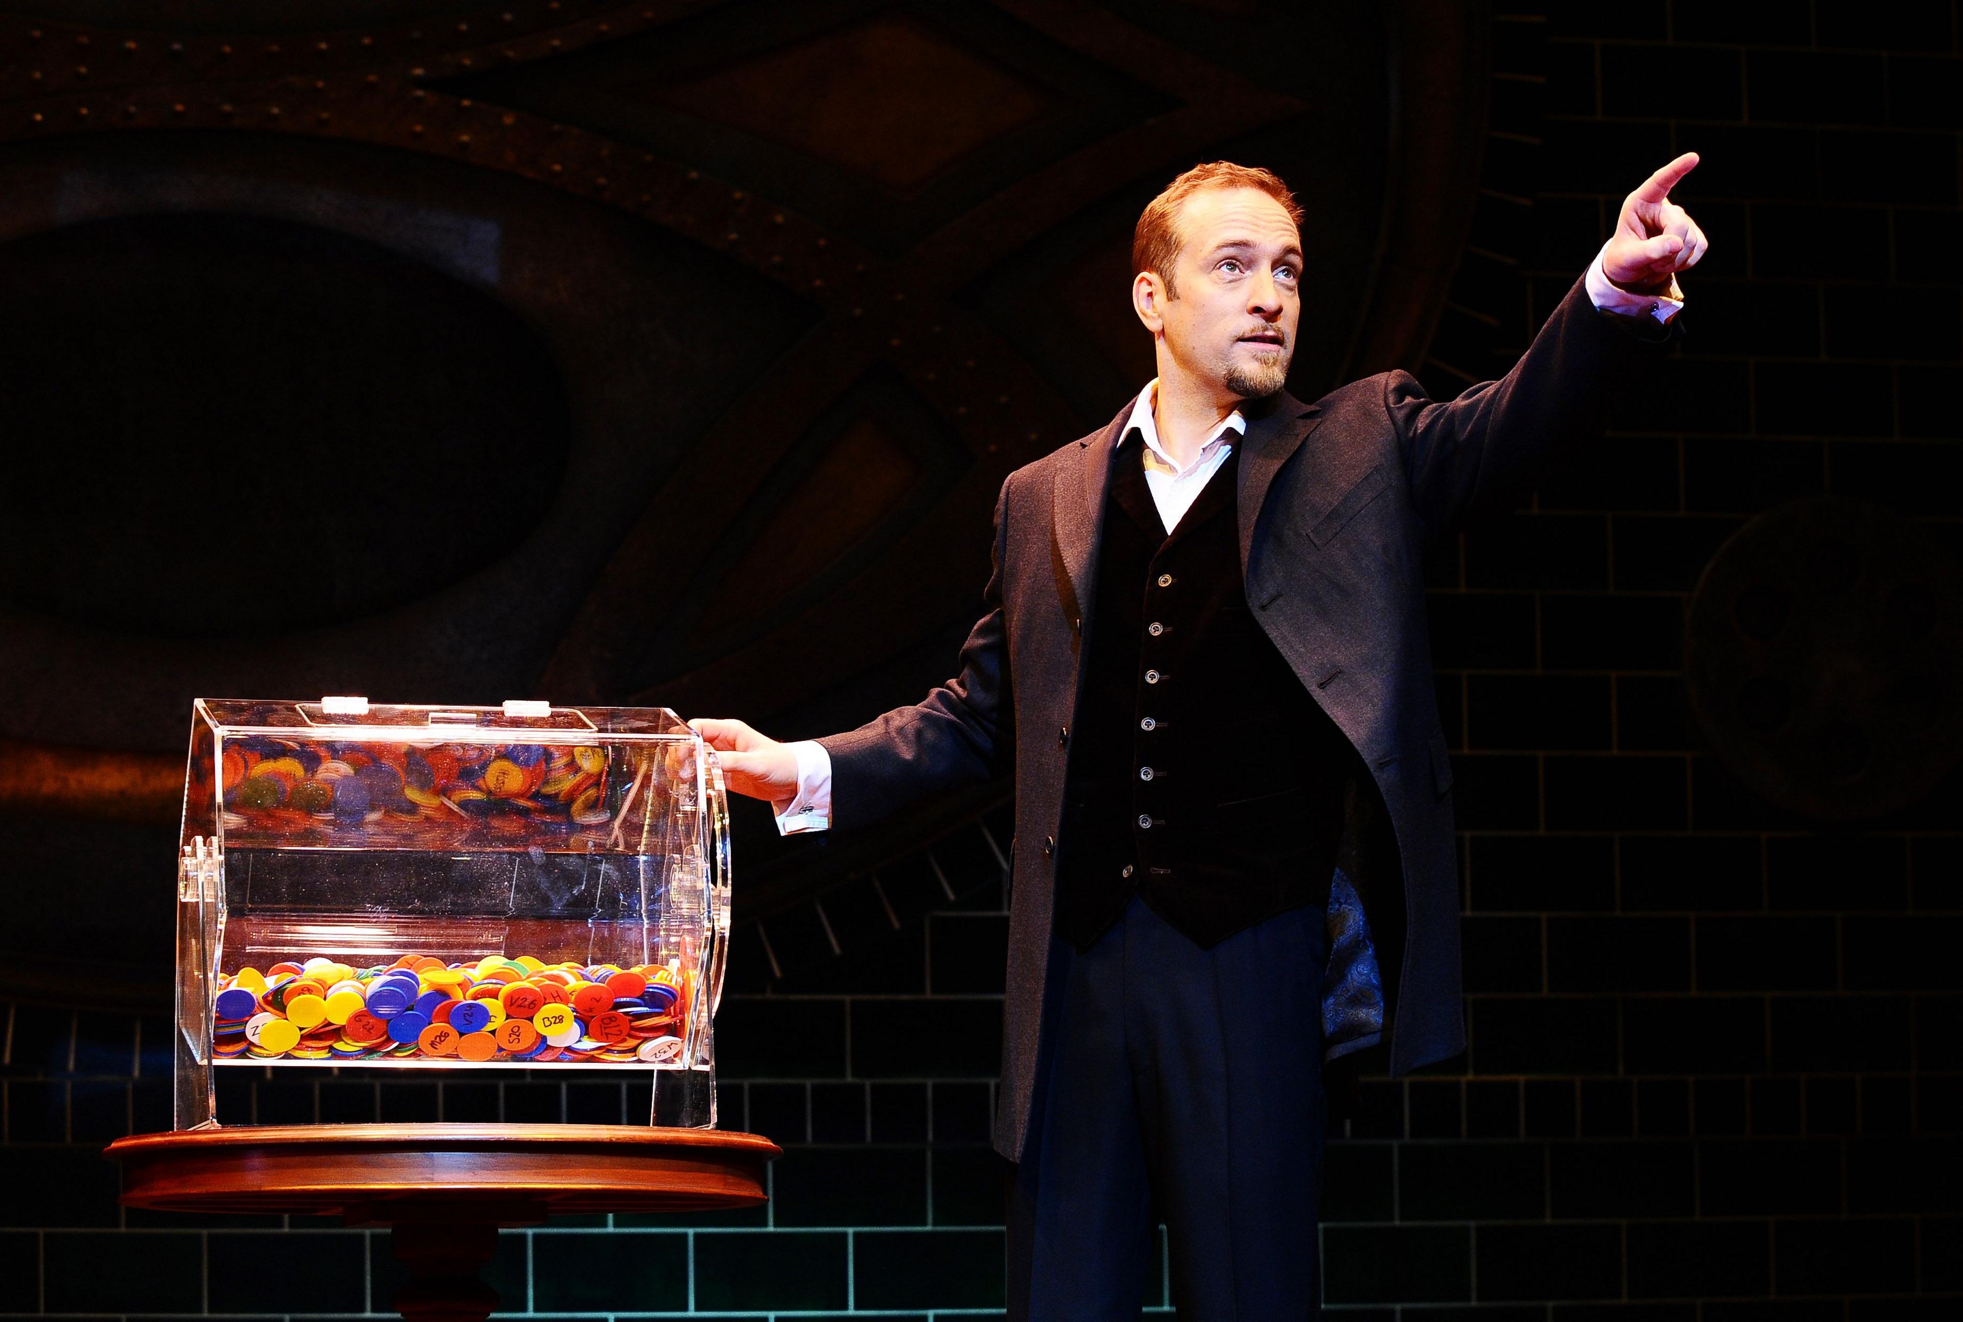
[[(1362, 1081), (1325, 1302), (1957, 1310), (1949, 0), (161, 22), (0, 4), (0, 1312), (387, 1310), (383, 1238), (120, 1212), (98, 1159), (169, 1124), (192, 696), (862, 720), (950, 665), (1001, 477), (1150, 371), (1127, 247), (1178, 169), (1301, 192), (1298, 394), (1451, 394), (1682, 149), (1680, 353), (1433, 557), (1472, 1047)], [(787, 1145), (773, 1204), (506, 1234), (506, 1304), (999, 1308), (1007, 847), (1005, 787), (821, 841), (746, 812), (722, 1114)], [(559, 1079), (232, 1071), (224, 1112), (644, 1114)]]

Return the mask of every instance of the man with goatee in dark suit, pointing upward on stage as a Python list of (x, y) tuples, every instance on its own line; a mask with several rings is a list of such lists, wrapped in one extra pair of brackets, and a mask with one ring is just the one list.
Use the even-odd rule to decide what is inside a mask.
[(1661, 353), (1706, 247), (1669, 200), (1694, 165), (1629, 194), (1506, 379), (1315, 404), (1282, 388), (1301, 212), (1266, 171), (1188, 171), (1133, 247), (1158, 379), (1003, 483), (960, 675), (797, 745), (693, 722), (787, 830), (1013, 765), (1011, 1316), (1137, 1316), (1154, 1214), (1180, 1316), (1315, 1312), (1325, 1055), (1386, 1014), (1394, 1073), (1464, 1045), (1421, 545)]

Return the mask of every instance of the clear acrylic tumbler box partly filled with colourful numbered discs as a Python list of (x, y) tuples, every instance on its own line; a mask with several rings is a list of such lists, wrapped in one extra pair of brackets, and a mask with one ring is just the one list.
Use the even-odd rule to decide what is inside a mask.
[(179, 1130), (212, 1067), (622, 1069), (715, 1126), (716, 757), (665, 708), (192, 704)]

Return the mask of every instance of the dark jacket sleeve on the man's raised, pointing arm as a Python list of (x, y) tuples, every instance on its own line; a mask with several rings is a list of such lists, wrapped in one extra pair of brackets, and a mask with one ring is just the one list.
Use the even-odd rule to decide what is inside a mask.
[(1598, 312), (1576, 280), (1500, 381), (1439, 402), (1409, 373), (1388, 373), (1384, 406), (1425, 532), (1451, 532), (1515, 494), (1541, 459), (1598, 437), (1612, 418), (1633, 422), (1635, 386), (1676, 335), (1674, 324)]

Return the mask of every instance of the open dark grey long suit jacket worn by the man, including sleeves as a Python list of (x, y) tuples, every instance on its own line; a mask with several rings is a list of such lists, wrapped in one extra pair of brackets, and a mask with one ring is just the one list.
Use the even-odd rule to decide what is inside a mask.
[[(1250, 406), (1239, 471), (1247, 600), (1268, 637), (1370, 769), (1402, 867), (1402, 904), (1366, 890), (1372, 924), (1402, 910), (1390, 1067), (1464, 1049), (1453, 767), (1439, 728), (1425, 628), (1423, 543), (1482, 502), (1517, 490), (1541, 453), (1600, 433), (1661, 353), (1655, 324), (1596, 312), (1580, 282), (1504, 379), (1455, 400), (1406, 373), (1347, 384), (1313, 404)], [(1050, 953), (1054, 836), (1066, 728), (1076, 724), (1082, 622), (1111, 455), (1131, 404), (1103, 430), (1017, 469), (995, 506), (995, 569), (960, 675), (923, 702), (821, 739), (832, 814), (868, 822), (927, 794), (1013, 767), (1009, 979), (995, 1147), (1021, 1157)], [(1390, 938), (1388, 941), (1384, 938)]]

